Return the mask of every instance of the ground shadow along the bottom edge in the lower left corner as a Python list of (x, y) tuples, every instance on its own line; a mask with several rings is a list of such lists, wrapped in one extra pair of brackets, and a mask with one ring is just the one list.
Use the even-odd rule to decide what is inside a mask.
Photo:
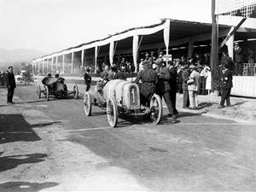
[(7, 182), (0, 183), (0, 191), (2, 192), (38, 192), (45, 188), (55, 187), (59, 183), (29, 183), (29, 182)]

